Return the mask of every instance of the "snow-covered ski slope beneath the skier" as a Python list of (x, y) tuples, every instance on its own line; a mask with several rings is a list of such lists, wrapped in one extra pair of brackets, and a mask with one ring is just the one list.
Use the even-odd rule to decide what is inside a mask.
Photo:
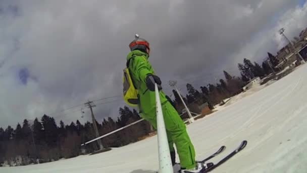
[[(212, 172), (307, 172), (307, 65), (258, 92), (188, 125), (197, 159), (242, 140), (247, 146)], [(177, 157), (178, 161), (178, 157)], [(157, 136), (95, 155), (38, 165), (2, 167), (0, 172), (154, 173)]]

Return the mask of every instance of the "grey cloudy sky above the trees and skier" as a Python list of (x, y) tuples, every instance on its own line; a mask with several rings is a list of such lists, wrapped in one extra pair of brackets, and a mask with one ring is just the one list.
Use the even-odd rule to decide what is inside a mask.
[(293, 38), (306, 17), (305, 0), (0, 0), (0, 126), (43, 114), (84, 122), (87, 100), (98, 100), (97, 121), (117, 117), (134, 33), (170, 94), (170, 79), (185, 92), (238, 74), (245, 57), (261, 62), (285, 45), (278, 30)]

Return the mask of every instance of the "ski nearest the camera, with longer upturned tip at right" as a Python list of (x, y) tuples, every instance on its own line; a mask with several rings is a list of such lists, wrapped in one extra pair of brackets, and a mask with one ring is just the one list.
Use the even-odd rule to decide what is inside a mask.
[(219, 165), (223, 164), (225, 161), (229, 160), (235, 154), (240, 152), (243, 148), (245, 148), (246, 145), (247, 145), (247, 141), (243, 140), (241, 142), (241, 144), (235, 150), (233, 150), (231, 153), (229, 153), (226, 157), (224, 157), (223, 159), (221, 159), (217, 163), (208, 163), (207, 167), (204, 170), (199, 171), (199, 173), (207, 173), (207, 172), (212, 171), (213, 169), (217, 168)]

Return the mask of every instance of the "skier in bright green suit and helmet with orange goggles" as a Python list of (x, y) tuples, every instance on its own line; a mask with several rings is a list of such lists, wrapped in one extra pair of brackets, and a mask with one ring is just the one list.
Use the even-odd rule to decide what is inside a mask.
[(160, 100), (168, 136), (172, 164), (175, 165), (175, 149), (180, 159), (181, 172), (198, 172), (202, 164), (195, 161), (195, 150), (186, 131), (186, 126), (175, 108), (167, 100), (162, 91), (161, 79), (158, 77), (148, 61), (150, 48), (149, 43), (139, 38), (129, 44), (130, 53), (127, 55), (127, 68), (130, 71), (131, 80), (137, 90), (137, 106), (140, 116), (147, 120), (157, 129), (155, 82), (158, 84)]

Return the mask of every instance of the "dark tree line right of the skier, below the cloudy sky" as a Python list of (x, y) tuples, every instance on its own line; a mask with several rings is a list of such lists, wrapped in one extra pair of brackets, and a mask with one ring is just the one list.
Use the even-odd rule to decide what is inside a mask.
[[(244, 58), (243, 63), (238, 63), (238, 69), (241, 76), (233, 76), (227, 71), (223, 71), (225, 79), (220, 79), (217, 83), (209, 83), (196, 90), (192, 84), (187, 83), (186, 89), (188, 94), (183, 97), (186, 105), (191, 111), (199, 113), (200, 110), (197, 106), (208, 103), (209, 108), (213, 109), (214, 105), (223, 104), (226, 98), (233, 97), (243, 91), (243, 87), (253, 78), (263, 78), (272, 72), (277, 72), (280, 69), (275, 68), (279, 64), (279, 60), (268, 52), (268, 57), (263, 60), (262, 65), (257, 62), (251, 62), (249, 59)], [(273, 71), (274, 70), (274, 71)], [(202, 81), (198, 81), (202, 82)], [(177, 111), (181, 113), (184, 105), (175, 90), (172, 91), (175, 97), (172, 104), (176, 107)], [(183, 115), (183, 118), (188, 118), (188, 115)]]

